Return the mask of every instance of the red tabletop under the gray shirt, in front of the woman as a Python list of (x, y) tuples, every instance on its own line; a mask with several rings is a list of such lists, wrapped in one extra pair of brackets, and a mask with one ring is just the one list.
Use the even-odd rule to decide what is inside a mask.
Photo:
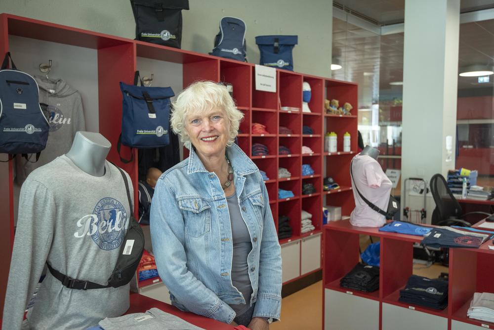
[(148, 309), (151, 309), (153, 307), (159, 308), (162, 311), (166, 313), (170, 313), (173, 315), (178, 316), (179, 318), (192, 323), (195, 326), (198, 326), (200, 328), (204, 329), (214, 329), (214, 330), (233, 330), (235, 329), (233, 326), (230, 326), (228, 324), (206, 318), (201, 315), (197, 315), (194, 313), (187, 313), (187, 312), (182, 312), (178, 308), (165, 304), (164, 302), (155, 300), (153, 298), (149, 298), (146, 296), (143, 296), (138, 293), (131, 293), (130, 294), (130, 307), (127, 310), (125, 314), (130, 314), (130, 313), (144, 313)]

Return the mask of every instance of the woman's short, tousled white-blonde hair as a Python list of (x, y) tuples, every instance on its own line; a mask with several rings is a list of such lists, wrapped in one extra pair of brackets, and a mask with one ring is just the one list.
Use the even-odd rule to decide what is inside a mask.
[(226, 119), (229, 122), (229, 138), (226, 145), (230, 146), (237, 137), (244, 114), (235, 107), (235, 102), (227, 88), (212, 81), (199, 81), (178, 94), (177, 99), (173, 102), (171, 128), (187, 148), (190, 149), (190, 137), (185, 130), (187, 116), (216, 107), (225, 111)]

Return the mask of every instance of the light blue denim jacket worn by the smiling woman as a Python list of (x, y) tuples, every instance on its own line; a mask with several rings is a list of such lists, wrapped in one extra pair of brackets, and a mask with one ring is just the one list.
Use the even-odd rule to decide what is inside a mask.
[[(280, 319), (281, 248), (266, 186), (257, 166), (236, 144), (227, 147), (240, 209), (250, 234), (247, 256), (253, 317)], [(246, 303), (232, 285), (230, 214), (218, 177), (192, 149), (158, 180), (151, 204), (151, 237), (158, 272), (174, 306), (231, 323), (228, 304)]]

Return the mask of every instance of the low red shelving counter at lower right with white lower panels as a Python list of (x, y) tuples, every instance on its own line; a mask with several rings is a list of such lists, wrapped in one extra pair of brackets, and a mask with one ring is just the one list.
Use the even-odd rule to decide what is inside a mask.
[[(467, 317), (467, 310), (475, 292), (494, 292), (494, 251), (489, 249), (489, 245), (492, 244), (490, 240), (478, 249), (450, 248), (448, 306), (444, 310), (436, 310), (398, 301), (400, 290), (405, 287), (413, 273), (413, 243), (420, 242), (421, 236), (379, 232), (377, 228), (353, 227), (348, 220), (330, 222), (323, 226), (323, 234), (323, 304), (329, 301), (329, 305), (324, 307), (323, 329), (325, 323), (329, 326), (332, 322), (342, 321), (335, 320), (339, 317), (347, 319), (348, 329), (354, 329), (352, 325), (359, 322), (359, 315), (363, 312), (358, 306), (365, 305), (369, 308), (368, 304), (373, 304), (365, 299), (370, 299), (378, 306), (375, 315), (366, 315), (365, 322), (378, 325), (377, 328), (369, 329), (391, 329), (390, 320), (397, 318), (403, 324), (413, 324), (415, 329), (494, 328), (494, 323)], [(380, 241), (379, 289), (371, 293), (352, 291), (339, 286), (340, 279), (359, 262), (360, 236), (378, 237)], [(335, 311), (338, 307), (331, 304), (332, 299), (329, 297), (338, 295), (335, 292), (351, 295), (348, 299), (353, 301), (354, 309), (348, 313)], [(330, 311), (330, 308), (333, 310)], [(338, 313), (339, 316), (336, 316)], [(424, 322), (428, 322), (428, 326), (424, 326)], [(478, 328), (467, 328), (470, 326)]]

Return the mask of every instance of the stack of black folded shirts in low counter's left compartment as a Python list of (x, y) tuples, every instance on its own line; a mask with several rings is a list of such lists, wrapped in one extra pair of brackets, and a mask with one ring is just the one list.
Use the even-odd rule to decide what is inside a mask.
[(364, 292), (379, 289), (379, 267), (358, 263), (340, 280), (340, 286)]

